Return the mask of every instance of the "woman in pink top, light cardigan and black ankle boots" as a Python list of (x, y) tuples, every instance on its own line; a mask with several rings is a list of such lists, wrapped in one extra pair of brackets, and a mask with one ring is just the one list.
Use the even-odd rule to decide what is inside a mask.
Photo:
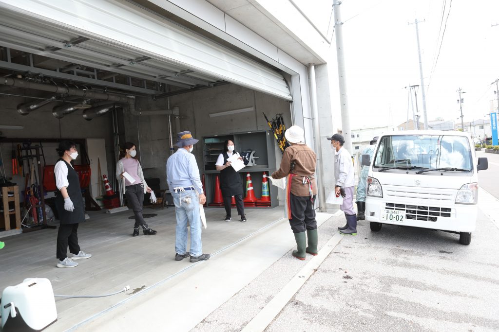
[[(142, 167), (136, 159), (137, 150), (135, 144), (126, 142), (120, 152), (120, 160), (116, 164), (116, 178), (122, 180), (123, 194), (128, 201), (128, 206), (135, 214), (135, 225), (133, 227), (133, 236), (139, 235), (139, 227), (142, 226), (144, 235), (154, 235), (158, 231), (149, 228), (142, 216), (142, 207), (144, 206), (144, 194), (152, 190), (147, 186), (142, 173)], [(123, 173), (126, 177), (124, 176)], [(131, 181), (130, 181), (131, 180)]]

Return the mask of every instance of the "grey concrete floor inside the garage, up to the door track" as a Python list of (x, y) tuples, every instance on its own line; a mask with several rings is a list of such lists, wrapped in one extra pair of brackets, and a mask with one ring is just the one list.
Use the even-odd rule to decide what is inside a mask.
[[(33, 277), (48, 278), (57, 295), (102, 295), (130, 286), (127, 292), (104, 298), (56, 298), (58, 321), (47, 331), (65, 331), (83, 328), (82, 325), (92, 320), (92, 317), (102, 316), (117, 304), (127, 302), (130, 297), (145, 293), (144, 290), (148, 288), (167, 286), (169, 282), (176, 284), (179, 279), (187, 278), (199, 270), (199, 266), (210, 262), (174, 260), (176, 222), (173, 207), (163, 210), (146, 207), (144, 214), (158, 215), (146, 219), (158, 234), (143, 235), (141, 231), (140, 236), (133, 237), (134, 221), (128, 219), (133, 216), (130, 210), (116, 214), (88, 212), (90, 219), (80, 223), (78, 238), (81, 250), (91, 253), (92, 257), (78, 260), (79, 265), (75, 268), (55, 266), (56, 229), (41, 229), (2, 238), (5, 247), (0, 251), (0, 290)], [(224, 209), (205, 208), (205, 214), (208, 228), (203, 229), (203, 252), (212, 254), (211, 260), (221, 253), (230, 252), (252, 234), (265, 233), (267, 228), (270, 232), (275, 224), (280, 224), (280, 227), (287, 224), (280, 222), (285, 221), (282, 207), (247, 209), (248, 222), (239, 221), (236, 210), (233, 210), (233, 221), (228, 222), (223, 221)], [(317, 220), (321, 219), (322, 222), (330, 217), (319, 215)], [(289, 225), (284, 225), (286, 227), (289, 228)], [(282, 228), (278, 232), (282, 233)], [(275, 260), (294, 245), (291, 232), (286, 234), (289, 236), (284, 236), (284, 242), (275, 239), (276, 242), (284, 243), (284, 251), (276, 252)], [(217, 258), (223, 259), (223, 255)], [(227, 261), (225, 264), (232, 263)], [(142, 321), (139, 317), (137, 319)]]

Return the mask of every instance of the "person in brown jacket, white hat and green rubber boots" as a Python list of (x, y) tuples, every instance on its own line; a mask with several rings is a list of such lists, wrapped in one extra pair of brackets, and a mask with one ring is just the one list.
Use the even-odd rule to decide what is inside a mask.
[[(317, 221), (315, 220), (315, 152), (305, 145), (303, 129), (291, 126), (284, 133), (291, 144), (282, 155), (279, 169), (272, 173), (273, 179), (286, 177), (284, 216), (294, 233), (297, 250), (293, 256), (304, 260), (305, 252), (317, 255)], [(306, 237), (308, 246), (306, 247)], [(306, 247), (306, 248), (305, 248)]]

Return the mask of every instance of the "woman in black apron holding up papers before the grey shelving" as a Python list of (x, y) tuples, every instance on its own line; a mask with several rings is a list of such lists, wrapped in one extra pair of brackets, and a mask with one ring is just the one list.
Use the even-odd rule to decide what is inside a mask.
[(231, 162), (228, 161), (231, 156), (241, 156), (236, 152), (234, 142), (230, 139), (224, 142), (224, 153), (221, 153), (217, 159), (216, 168), (220, 171), (220, 190), (224, 197), (225, 206), (225, 221), (231, 221), (231, 202), (232, 197), (236, 199), (236, 207), (238, 215), (241, 216), (241, 222), (247, 221), (245, 216), (245, 207), (243, 204), (243, 181), (241, 175), (231, 167)]

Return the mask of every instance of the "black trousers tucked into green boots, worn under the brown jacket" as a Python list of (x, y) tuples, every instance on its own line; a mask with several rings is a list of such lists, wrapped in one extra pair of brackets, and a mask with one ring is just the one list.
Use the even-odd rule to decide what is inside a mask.
[(290, 195), (291, 204), (291, 219), (289, 225), (293, 233), (301, 233), (305, 230), (317, 229), (317, 221), (315, 220), (315, 210), (313, 208), (315, 203), (315, 195), (313, 200), (310, 196), (294, 196)]

